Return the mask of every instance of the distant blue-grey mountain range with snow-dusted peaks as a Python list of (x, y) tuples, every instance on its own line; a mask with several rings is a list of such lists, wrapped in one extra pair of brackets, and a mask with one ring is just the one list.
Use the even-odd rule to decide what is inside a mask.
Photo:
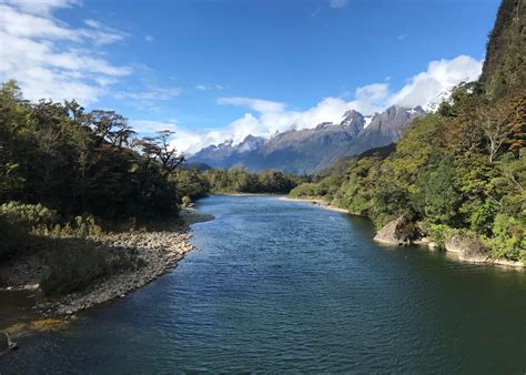
[(422, 108), (391, 107), (365, 118), (357, 111), (344, 113), (340, 123), (324, 122), (314, 129), (291, 130), (269, 140), (249, 135), (240, 144), (226, 141), (202, 149), (189, 162), (213, 168), (244, 166), (252, 171), (266, 169), (311, 174), (342, 156), (397, 141), (407, 123), (424, 114)]

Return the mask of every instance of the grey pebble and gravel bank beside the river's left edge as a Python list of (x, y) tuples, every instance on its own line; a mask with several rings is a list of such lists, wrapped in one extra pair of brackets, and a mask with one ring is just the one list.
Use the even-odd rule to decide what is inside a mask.
[(50, 257), (49, 249), (2, 264), (0, 291), (34, 292), (36, 303), (32, 308), (43, 317), (73, 315), (94, 305), (124, 297), (175, 267), (178, 262), (194, 249), (191, 243), (190, 224), (214, 217), (198, 213), (194, 209), (183, 209), (180, 219), (184, 224), (163, 224), (162, 230), (156, 231), (104, 233), (75, 239), (80, 244), (89, 243), (103, 253), (127, 254), (139, 264), (136, 267), (97, 280), (80, 292), (44, 296), (40, 284), (49, 274), (47, 264)]

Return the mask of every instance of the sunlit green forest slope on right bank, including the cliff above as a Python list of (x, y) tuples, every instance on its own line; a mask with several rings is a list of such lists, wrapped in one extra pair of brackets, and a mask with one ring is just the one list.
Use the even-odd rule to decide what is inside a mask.
[(293, 196), (323, 197), (377, 227), (404, 215), (439, 245), (477, 239), (526, 261), (526, 8), (504, 1), (478, 82), (412, 122), (392, 150), (347, 158)]

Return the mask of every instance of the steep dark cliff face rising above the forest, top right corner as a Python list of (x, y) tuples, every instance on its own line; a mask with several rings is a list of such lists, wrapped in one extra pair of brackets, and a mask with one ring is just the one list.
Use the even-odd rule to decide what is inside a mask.
[(503, 0), (479, 79), (489, 98), (526, 84), (526, 0)]

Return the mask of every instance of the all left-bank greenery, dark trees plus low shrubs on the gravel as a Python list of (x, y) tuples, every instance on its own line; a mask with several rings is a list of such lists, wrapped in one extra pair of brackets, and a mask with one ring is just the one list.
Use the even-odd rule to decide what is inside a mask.
[[(53, 243), (47, 293), (69, 293), (136, 266), (131, 253), (90, 242), (100, 223), (132, 226), (178, 214), (184, 161), (170, 132), (139, 139), (113, 111), (77, 102), (30, 103), (14, 81), (0, 89), (0, 261)], [(192, 189), (192, 188), (191, 188)], [(22, 202), (22, 203), (20, 203)], [(45, 246), (44, 246), (45, 247)]]

